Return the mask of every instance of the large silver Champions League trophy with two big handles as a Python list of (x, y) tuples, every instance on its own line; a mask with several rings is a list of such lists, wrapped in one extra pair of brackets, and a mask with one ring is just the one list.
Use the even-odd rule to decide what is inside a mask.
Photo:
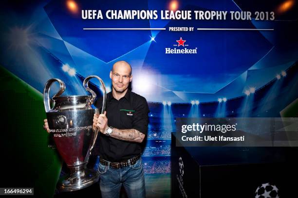
[[(106, 106), (106, 88), (98, 76), (88, 76), (83, 86), (92, 96), (60, 96), (65, 84), (59, 79), (50, 79), (43, 92), (44, 107), (48, 119), (50, 133), (62, 159), (70, 169), (70, 173), (57, 183), (60, 191), (75, 191), (86, 188), (99, 179), (97, 171), (87, 169), (89, 155), (95, 144), (98, 129), (93, 131), (93, 115), (98, 109), (93, 105), (95, 92), (88, 87), (88, 82), (97, 78), (102, 86), (103, 102), (101, 113)], [(52, 98), (55, 105), (50, 107), (49, 91), (53, 82), (59, 82), (58, 93)]]

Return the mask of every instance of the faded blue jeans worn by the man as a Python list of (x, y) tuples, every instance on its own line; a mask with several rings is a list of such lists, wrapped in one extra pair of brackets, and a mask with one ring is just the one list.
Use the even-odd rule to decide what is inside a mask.
[(123, 184), (129, 198), (145, 198), (145, 178), (142, 158), (134, 165), (114, 169), (99, 163), (99, 186), (102, 198), (119, 198)]

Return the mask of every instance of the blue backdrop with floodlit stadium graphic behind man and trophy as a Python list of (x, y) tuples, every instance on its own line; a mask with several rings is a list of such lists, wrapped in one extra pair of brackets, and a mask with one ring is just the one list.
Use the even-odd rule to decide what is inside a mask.
[[(169, 174), (176, 117), (280, 116), (297, 99), (297, 3), (286, 2), (6, 1), (0, 8), (0, 64), (40, 93), (47, 80), (59, 78), (66, 84), (65, 95), (82, 95), (87, 94), (82, 81), (88, 75), (100, 76), (111, 91), (112, 65), (129, 62), (132, 91), (144, 96), (150, 108), (145, 172)], [(82, 10), (101, 10), (104, 19), (82, 19)], [(107, 10), (157, 10), (159, 17), (107, 19)], [(161, 19), (161, 10), (273, 11), (275, 19), (231, 20), (228, 14), (226, 20), (168, 20)], [(169, 27), (194, 31), (171, 32)], [(180, 38), (185, 42), (178, 46)], [(197, 53), (168, 54), (166, 48)]]

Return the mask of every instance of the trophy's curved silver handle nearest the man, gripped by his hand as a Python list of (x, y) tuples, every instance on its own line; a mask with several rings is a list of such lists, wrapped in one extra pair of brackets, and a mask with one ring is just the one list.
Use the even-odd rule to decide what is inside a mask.
[[(104, 84), (104, 82), (101, 80), (101, 78), (99, 78), (98, 76), (88, 76), (84, 82), (83, 82), (83, 85), (85, 87), (85, 89), (90, 92), (92, 94), (92, 99), (91, 99), (91, 103), (94, 102), (95, 98), (96, 98), (96, 94), (95, 92), (89, 88), (88, 86), (88, 82), (90, 81), (90, 79), (92, 78), (97, 78), (97, 80), (101, 83), (101, 87), (102, 87), (102, 92), (103, 92), (103, 100), (102, 100), (102, 108), (101, 108), (101, 114), (103, 114), (106, 110), (106, 103), (107, 103), (107, 92), (106, 92), (106, 86)], [(98, 109), (95, 109), (95, 114), (98, 114)], [(91, 153), (91, 150), (93, 149), (94, 145), (95, 145), (95, 141), (96, 141), (96, 138), (97, 138), (97, 134), (98, 134), (98, 128), (95, 129), (95, 132), (94, 132), (94, 139), (93, 139), (93, 144), (92, 146), (90, 147), (90, 153)]]

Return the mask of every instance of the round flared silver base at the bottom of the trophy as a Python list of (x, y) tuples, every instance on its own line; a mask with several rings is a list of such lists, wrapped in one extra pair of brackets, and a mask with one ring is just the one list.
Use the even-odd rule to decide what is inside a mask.
[(65, 177), (57, 183), (57, 189), (61, 192), (75, 191), (86, 188), (99, 180), (99, 173), (92, 169), (80, 169)]

